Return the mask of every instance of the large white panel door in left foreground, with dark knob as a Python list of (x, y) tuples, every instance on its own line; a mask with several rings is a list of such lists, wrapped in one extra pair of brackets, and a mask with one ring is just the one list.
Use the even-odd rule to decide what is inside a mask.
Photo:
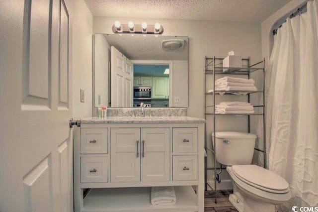
[(0, 1), (0, 211), (73, 210), (71, 0)]

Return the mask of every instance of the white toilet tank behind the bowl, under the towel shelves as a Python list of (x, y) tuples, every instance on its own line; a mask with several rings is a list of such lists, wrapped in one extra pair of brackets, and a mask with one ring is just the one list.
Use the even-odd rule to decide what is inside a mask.
[[(212, 133), (212, 141), (214, 133)], [(246, 132), (216, 132), (216, 160), (227, 166), (251, 164), (256, 135)], [(212, 142), (212, 145), (214, 143)]]

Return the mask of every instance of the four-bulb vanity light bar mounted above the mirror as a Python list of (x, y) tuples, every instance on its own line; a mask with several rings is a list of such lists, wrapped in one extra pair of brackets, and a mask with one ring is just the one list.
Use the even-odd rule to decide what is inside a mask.
[(113, 27), (114, 33), (120, 34), (162, 34), (163, 27), (160, 23), (154, 25), (143, 22), (142, 24), (134, 24), (133, 21), (129, 21), (128, 24), (121, 24), (118, 20), (115, 21)]

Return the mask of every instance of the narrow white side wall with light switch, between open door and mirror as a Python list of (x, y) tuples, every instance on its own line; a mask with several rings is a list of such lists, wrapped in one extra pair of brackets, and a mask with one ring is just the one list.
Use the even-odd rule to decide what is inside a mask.
[[(73, 13), (73, 118), (91, 116), (93, 16), (84, 0), (74, 0)], [(80, 89), (85, 92), (80, 102)]]

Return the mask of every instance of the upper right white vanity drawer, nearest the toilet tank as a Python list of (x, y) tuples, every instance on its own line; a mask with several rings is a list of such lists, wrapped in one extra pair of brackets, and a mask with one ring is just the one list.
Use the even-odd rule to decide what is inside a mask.
[(173, 152), (198, 152), (198, 128), (173, 128)]

